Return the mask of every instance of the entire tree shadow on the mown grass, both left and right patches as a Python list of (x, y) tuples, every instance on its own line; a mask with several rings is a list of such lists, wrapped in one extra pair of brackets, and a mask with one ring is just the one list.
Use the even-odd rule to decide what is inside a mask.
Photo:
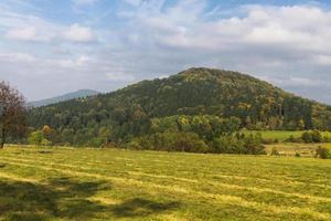
[(143, 218), (180, 207), (179, 202), (158, 202), (134, 198), (116, 206), (89, 200), (97, 191), (110, 190), (109, 182), (82, 181), (67, 177), (32, 183), (0, 180), (0, 220), (92, 220), (98, 213), (115, 218)]

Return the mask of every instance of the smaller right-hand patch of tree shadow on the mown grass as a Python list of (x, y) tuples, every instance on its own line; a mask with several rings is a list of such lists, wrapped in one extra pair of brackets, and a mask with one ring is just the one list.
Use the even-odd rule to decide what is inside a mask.
[(180, 207), (179, 202), (156, 202), (142, 198), (135, 198), (115, 206), (113, 211), (118, 218), (146, 217), (150, 214), (161, 213), (167, 210), (173, 210)]

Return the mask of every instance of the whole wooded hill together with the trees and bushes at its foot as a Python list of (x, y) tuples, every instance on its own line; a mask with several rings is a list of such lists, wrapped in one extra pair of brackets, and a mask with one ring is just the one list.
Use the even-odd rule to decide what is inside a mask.
[(252, 149), (260, 138), (239, 129), (330, 130), (331, 108), (248, 75), (191, 69), (31, 108), (26, 122), (29, 139), (21, 141), (38, 145), (248, 154), (260, 152)]

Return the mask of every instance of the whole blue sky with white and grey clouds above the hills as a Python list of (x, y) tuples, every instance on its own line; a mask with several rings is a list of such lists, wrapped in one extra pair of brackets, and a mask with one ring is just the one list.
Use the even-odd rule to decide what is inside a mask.
[(193, 66), (331, 104), (331, 1), (0, 1), (0, 81), (28, 101)]

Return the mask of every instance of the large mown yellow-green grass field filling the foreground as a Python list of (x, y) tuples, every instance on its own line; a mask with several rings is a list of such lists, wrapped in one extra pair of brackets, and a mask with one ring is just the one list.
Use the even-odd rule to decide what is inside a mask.
[(331, 220), (331, 160), (0, 150), (0, 220)]

